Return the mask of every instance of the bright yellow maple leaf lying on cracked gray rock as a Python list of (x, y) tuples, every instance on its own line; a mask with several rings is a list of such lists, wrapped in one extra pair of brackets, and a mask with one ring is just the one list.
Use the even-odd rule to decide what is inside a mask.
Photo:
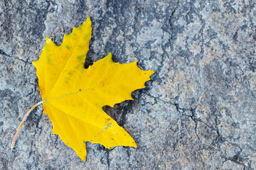
[(144, 88), (154, 71), (143, 71), (137, 62), (112, 62), (111, 53), (85, 69), (92, 33), (90, 18), (64, 35), (60, 46), (46, 38), (38, 61), (33, 62), (43, 99), (43, 113), (53, 123), (53, 134), (86, 160), (85, 142), (107, 148), (137, 147), (132, 137), (102, 110), (133, 100), (132, 91)]

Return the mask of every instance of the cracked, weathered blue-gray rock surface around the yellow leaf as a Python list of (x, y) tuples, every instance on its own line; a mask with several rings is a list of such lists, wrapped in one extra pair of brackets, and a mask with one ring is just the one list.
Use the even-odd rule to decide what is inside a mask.
[[(87, 162), (52, 134), (36, 69), (45, 37), (92, 19), (87, 63), (154, 69), (105, 111), (138, 148), (87, 142)], [(0, 1), (0, 169), (256, 169), (256, 3), (250, 0)]]

